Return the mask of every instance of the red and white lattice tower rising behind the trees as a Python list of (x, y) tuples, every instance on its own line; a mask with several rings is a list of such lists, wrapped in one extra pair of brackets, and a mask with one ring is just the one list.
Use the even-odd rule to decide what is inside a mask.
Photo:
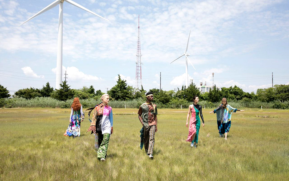
[(136, 51), (136, 68), (135, 68), (135, 88), (141, 87), (141, 34), (139, 28), (139, 15), (138, 15), (138, 47)]

